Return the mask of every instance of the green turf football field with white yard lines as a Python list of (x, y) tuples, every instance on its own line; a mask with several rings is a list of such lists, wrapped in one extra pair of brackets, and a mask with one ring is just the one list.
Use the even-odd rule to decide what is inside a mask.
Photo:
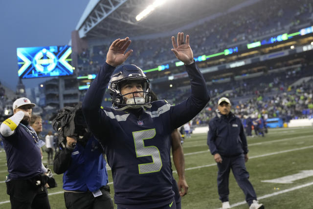
[[(259, 201), (266, 209), (313, 209), (313, 176), (299, 177), (289, 184), (264, 183), (306, 170), (313, 172), (313, 128), (269, 129), (266, 137), (248, 138), (250, 181)], [(206, 145), (206, 134), (192, 135), (184, 144), (185, 175), (188, 194), (182, 198), (183, 209), (218, 209), (222, 206), (217, 193), (217, 166)], [(46, 153), (44, 163), (46, 161)], [(5, 153), (0, 152), (0, 209), (9, 209), (4, 183), (7, 175)], [(51, 166), (52, 168), (52, 166)], [(174, 168), (174, 166), (173, 166)], [(112, 173), (108, 170), (113, 197)], [(52, 209), (64, 209), (62, 175), (54, 175), (58, 187), (48, 189)], [(174, 171), (174, 177), (178, 176)], [(229, 180), (232, 208), (247, 209), (245, 196), (233, 175)]]

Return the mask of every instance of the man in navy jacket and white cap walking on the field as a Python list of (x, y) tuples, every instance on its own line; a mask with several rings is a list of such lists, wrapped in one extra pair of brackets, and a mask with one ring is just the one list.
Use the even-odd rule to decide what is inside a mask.
[(209, 122), (207, 144), (219, 168), (217, 184), (223, 209), (230, 209), (228, 195), (229, 172), (234, 177), (246, 195), (249, 209), (264, 209), (259, 204), (253, 186), (249, 181), (245, 162), (248, 160), (248, 146), (243, 124), (239, 117), (230, 112), (231, 103), (222, 97), (218, 101), (217, 116)]

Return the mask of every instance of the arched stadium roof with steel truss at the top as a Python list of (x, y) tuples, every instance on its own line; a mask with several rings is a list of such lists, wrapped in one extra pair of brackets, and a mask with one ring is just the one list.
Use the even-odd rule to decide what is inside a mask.
[(137, 22), (135, 17), (153, 0), (90, 0), (76, 30), (81, 38), (100, 39), (162, 33), (243, 1), (246, 0), (232, 0), (232, 3), (226, 0), (165, 0), (162, 6)]

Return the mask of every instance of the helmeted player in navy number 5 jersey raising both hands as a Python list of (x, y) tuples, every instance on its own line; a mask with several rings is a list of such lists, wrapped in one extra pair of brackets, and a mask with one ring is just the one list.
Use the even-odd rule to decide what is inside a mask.
[[(151, 102), (150, 80), (137, 66), (123, 65), (133, 52), (126, 52), (130, 44), (128, 37), (112, 43), (106, 63), (85, 95), (83, 114), (90, 131), (105, 146), (117, 208), (175, 209), (171, 134), (209, 101), (205, 81), (194, 62), (189, 36), (178, 33), (177, 41), (172, 37), (172, 51), (184, 63), (191, 95), (176, 106), (165, 100)], [(101, 109), (107, 87), (112, 107)]]

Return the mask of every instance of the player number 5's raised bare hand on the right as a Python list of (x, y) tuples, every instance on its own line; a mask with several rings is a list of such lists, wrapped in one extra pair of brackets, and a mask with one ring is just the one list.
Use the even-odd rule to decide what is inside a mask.
[(177, 34), (177, 42), (175, 37), (172, 36), (172, 51), (177, 59), (183, 62), (185, 65), (189, 65), (194, 61), (194, 54), (189, 46), (189, 35), (186, 35), (186, 41), (184, 41), (184, 33)]

